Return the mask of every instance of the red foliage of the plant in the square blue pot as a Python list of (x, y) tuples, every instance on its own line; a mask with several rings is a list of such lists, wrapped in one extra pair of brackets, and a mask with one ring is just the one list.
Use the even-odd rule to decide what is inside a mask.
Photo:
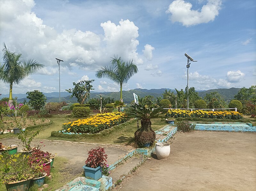
[(107, 163), (108, 155), (105, 154), (105, 150), (102, 147), (96, 147), (88, 151), (88, 158), (85, 161), (85, 165), (91, 168), (97, 168), (104, 166)]

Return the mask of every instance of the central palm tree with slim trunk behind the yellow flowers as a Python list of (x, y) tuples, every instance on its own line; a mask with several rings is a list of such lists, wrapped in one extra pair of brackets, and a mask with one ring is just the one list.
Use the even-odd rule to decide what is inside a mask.
[(108, 78), (119, 84), (120, 101), (123, 102), (123, 84), (126, 84), (138, 72), (138, 68), (131, 60), (125, 63), (121, 57), (117, 58), (117, 55), (114, 55), (111, 62), (112, 64), (110, 66), (103, 66), (100, 70), (96, 71), (95, 76), (97, 78)]

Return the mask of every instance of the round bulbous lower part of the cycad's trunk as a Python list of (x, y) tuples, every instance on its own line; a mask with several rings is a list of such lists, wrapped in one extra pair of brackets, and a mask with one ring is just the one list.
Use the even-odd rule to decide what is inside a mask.
[(153, 144), (156, 139), (156, 133), (154, 130), (141, 131), (140, 129), (138, 129), (134, 133), (134, 138), (135, 138), (135, 142), (140, 146), (144, 146), (144, 144), (149, 142)]

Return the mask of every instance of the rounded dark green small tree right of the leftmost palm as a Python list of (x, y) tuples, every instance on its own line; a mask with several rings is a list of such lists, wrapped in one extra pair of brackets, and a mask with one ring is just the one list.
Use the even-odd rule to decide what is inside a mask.
[(34, 110), (40, 110), (41, 108), (44, 107), (47, 99), (42, 92), (38, 90), (34, 90), (32, 92), (27, 92), (26, 94), (28, 95), (27, 98), (29, 99), (28, 104)]

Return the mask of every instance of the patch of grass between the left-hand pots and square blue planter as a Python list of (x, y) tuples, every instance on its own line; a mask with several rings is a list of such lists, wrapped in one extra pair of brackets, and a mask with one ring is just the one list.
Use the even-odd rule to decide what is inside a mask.
[[(84, 176), (83, 174), (74, 174), (72, 169), (68, 169), (68, 159), (65, 157), (55, 157), (54, 158), (54, 168), (51, 169), (52, 180), (48, 177), (45, 178), (44, 184), (48, 184), (44, 191), (56, 190), (66, 183), (72, 181), (78, 176)], [(0, 190), (6, 190), (4, 184), (0, 184)], [(29, 191), (37, 191), (38, 187), (36, 185), (29, 188)]]

